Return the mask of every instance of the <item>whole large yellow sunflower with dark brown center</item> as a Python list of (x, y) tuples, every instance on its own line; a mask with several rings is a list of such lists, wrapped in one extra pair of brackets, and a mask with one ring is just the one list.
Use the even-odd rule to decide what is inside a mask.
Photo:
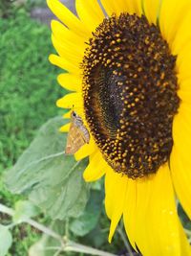
[(89, 156), (86, 181), (105, 176), (109, 242), (123, 218), (143, 255), (191, 255), (176, 206), (191, 217), (191, 1), (100, 2), (76, 0), (76, 16), (48, 0), (70, 91), (57, 105), (90, 133), (75, 158)]

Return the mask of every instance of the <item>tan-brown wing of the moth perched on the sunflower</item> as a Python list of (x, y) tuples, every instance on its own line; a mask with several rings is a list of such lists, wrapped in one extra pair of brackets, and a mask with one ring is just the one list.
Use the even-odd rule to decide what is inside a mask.
[(74, 154), (86, 143), (83, 133), (79, 128), (77, 128), (74, 123), (71, 123), (69, 129), (67, 144), (66, 144), (66, 153)]

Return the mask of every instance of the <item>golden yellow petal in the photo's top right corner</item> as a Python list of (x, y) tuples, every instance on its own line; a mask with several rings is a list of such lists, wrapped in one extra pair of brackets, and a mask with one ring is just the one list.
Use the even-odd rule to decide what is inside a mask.
[(182, 15), (190, 10), (190, 0), (163, 0), (159, 14), (161, 34), (172, 48), (173, 39), (179, 29)]

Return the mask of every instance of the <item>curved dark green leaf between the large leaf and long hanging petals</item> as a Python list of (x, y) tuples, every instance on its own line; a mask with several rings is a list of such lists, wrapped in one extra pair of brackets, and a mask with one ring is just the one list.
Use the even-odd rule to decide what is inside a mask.
[(96, 227), (102, 202), (101, 192), (92, 190), (84, 212), (70, 223), (70, 229), (76, 236), (85, 236)]

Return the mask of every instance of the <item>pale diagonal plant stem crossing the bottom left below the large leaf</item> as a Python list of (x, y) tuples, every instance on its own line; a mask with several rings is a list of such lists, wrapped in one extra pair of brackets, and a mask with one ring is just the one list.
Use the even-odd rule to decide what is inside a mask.
[[(8, 214), (10, 216), (14, 215), (13, 209), (11, 209), (1, 203), (0, 203), (0, 212)], [(85, 254), (97, 255), (97, 256), (117, 256), (116, 254), (98, 250), (98, 249), (92, 248), (90, 246), (76, 244), (72, 241), (67, 240), (66, 238), (63, 239), (60, 235), (55, 233), (51, 228), (46, 227), (45, 225), (40, 224), (37, 221), (33, 221), (32, 219), (25, 220), (25, 222), (32, 225), (33, 227), (40, 230), (41, 232), (47, 234), (48, 236), (53, 237), (54, 239), (59, 241), (60, 242), (60, 251), (82, 252)]]

